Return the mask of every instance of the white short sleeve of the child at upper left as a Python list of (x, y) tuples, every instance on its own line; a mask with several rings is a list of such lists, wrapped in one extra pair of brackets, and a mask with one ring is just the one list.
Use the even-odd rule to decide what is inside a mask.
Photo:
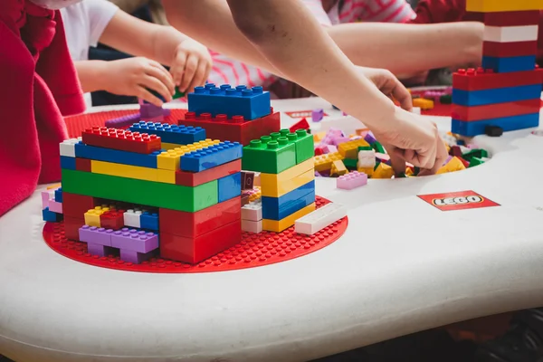
[[(89, 47), (96, 46), (119, 7), (106, 0), (83, 0), (61, 9), (66, 41), (73, 62), (88, 61)], [(91, 107), (90, 93), (83, 95)]]

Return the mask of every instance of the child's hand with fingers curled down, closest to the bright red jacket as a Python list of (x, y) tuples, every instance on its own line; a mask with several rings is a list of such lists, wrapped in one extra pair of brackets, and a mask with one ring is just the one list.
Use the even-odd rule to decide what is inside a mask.
[(124, 96), (136, 96), (156, 106), (162, 106), (149, 90), (155, 90), (165, 100), (172, 100), (175, 85), (170, 73), (160, 65), (147, 58), (136, 57), (119, 61), (105, 62), (104, 88), (110, 93)]

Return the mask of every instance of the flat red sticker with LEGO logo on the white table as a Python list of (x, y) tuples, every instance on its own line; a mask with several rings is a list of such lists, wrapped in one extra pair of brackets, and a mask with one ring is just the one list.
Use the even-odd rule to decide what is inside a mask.
[(441, 211), (476, 209), (500, 206), (473, 191), (460, 191), (447, 194), (418, 195), (421, 199)]

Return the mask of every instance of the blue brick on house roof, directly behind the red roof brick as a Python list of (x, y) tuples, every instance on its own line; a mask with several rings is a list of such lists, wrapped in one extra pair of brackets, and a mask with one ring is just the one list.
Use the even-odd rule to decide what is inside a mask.
[(141, 120), (139, 123), (134, 123), (130, 130), (132, 132), (157, 135), (162, 139), (162, 142), (175, 143), (176, 145), (190, 145), (205, 139), (205, 129), (201, 127), (177, 126), (169, 123)]

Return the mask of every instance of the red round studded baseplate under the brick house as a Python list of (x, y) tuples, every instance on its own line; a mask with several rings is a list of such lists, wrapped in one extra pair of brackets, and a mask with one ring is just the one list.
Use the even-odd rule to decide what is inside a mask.
[[(315, 203), (319, 208), (328, 204), (329, 200), (317, 196)], [(133, 264), (121, 261), (119, 256), (91, 255), (87, 252), (86, 243), (66, 239), (62, 222), (46, 223), (43, 227), (43, 239), (52, 250), (67, 258), (102, 268), (162, 273), (235, 271), (286, 262), (316, 252), (338, 240), (347, 230), (347, 225), (346, 216), (310, 236), (295, 233), (293, 226), (281, 233), (243, 233), (241, 243), (195, 265), (159, 258)]]

